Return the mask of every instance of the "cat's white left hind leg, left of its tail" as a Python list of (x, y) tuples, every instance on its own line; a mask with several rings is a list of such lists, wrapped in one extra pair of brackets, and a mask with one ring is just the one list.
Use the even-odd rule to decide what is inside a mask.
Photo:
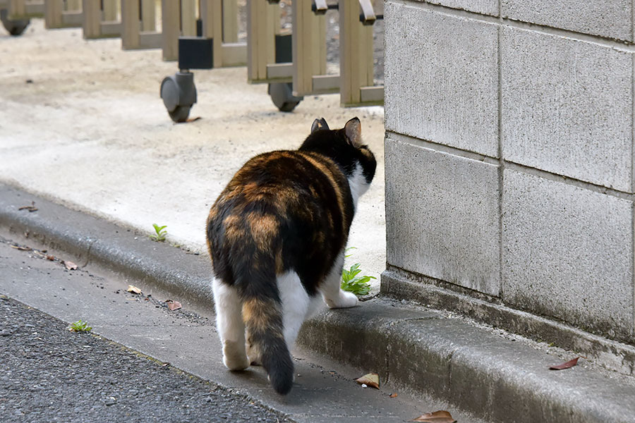
[(215, 278), (212, 289), (216, 327), (223, 345), (223, 363), (230, 370), (244, 370), (249, 367), (249, 360), (245, 350), (245, 324), (238, 292), (236, 288)]

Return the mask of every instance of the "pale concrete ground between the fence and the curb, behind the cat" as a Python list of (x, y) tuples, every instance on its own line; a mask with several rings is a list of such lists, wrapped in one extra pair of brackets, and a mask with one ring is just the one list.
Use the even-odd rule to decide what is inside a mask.
[(194, 73), (190, 117), (201, 119), (174, 124), (159, 87), (176, 71), (159, 50), (122, 51), (120, 39), (86, 41), (39, 19), (21, 37), (0, 32), (0, 180), (146, 233), (167, 225), (169, 243), (205, 252), (210, 207), (248, 159), (298, 148), (315, 118), (341, 128), (358, 116), (378, 166), (353, 221), (350, 259), (379, 290), (383, 108), (341, 109), (339, 95), (322, 95), (285, 114), (267, 85), (248, 85), (246, 68), (219, 68)]

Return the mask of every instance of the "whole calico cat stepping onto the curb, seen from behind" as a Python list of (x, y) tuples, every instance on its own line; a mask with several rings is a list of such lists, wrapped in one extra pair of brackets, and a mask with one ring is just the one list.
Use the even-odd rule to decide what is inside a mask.
[(361, 123), (329, 130), (315, 119), (298, 150), (250, 159), (207, 218), (217, 328), (230, 370), (262, 363), (274, 389), (289, 393), (289, 353), (320, 295), (331, 308), (357, 297), (339, 288), (358, 198), (375, 176)]

